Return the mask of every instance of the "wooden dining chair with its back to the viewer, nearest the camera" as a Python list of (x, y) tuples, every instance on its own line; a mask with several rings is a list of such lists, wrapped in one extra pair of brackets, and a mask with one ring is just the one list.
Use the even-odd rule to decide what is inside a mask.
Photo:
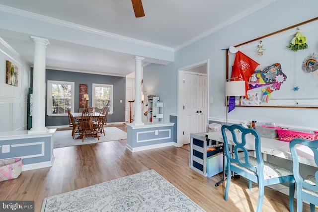
[(98, 125), (94, 123), (94, 108), (85, 108), (81, 113), (80, 128), (81, 128), (81, 139), (84, 141), (85, 137), (97, 137), (98, 136)]

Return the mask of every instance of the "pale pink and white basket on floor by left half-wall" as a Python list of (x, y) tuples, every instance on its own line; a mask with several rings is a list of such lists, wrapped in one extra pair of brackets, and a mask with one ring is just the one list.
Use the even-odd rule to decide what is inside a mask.
[(21, 174), (22, 165), (21, 158), (0, 160), (0, 182), (17, 178)]

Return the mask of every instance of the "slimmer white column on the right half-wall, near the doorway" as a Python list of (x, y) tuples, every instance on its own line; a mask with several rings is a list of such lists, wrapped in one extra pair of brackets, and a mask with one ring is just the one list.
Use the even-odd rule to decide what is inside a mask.
[(142, 67), (141, 67), (141, 61), (144, 60), (143, 57), (136, 56), (135, 58), (135, 118), (134, 118), (134, 124), (135, 125), (144, 125), (142, 122), (141, 117), (141, 91), (142, 91)]

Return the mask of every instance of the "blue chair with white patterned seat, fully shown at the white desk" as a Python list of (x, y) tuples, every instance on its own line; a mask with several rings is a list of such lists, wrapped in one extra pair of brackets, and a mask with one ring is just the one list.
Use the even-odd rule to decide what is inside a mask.
[[(230, 131), (233, 137), (228, 140), (226, 132)], [(264, 187), (267, 185), (273, 185), (278, 183), (289, 182), (289, 207), (290, 211), (294, 211), (294, 193), (295, 193), (295, 179), (293, 172), (288, 169), (279, 167), (275, 164), (263, 161), (261, 153), (260, 136), (254, 129), (244, 128), (241, 125), (223, 125), (222, 135), (225, 145), (225, 154), (227, 157), (228, 170), (227, 170), (227, 185), (225, 189), (224, 199), (228, 201), (231, 173), (237, 173), (238, 175), (248, 179), (249, 190), (252, 188), (252, 182), (258, 184), (258, 203), (256, 212), (262, 211), (264, 200)], [(255, 142), (255, 155), (252, 157), (248, 155), (248, 150), (245, 146), (247, 144), (246, 137), (249, 137), (248, 141)], [(233, 145), (233, 150), (230, 152), (230, 146)], [(250, 146), (250, 143), (249, 143)]]

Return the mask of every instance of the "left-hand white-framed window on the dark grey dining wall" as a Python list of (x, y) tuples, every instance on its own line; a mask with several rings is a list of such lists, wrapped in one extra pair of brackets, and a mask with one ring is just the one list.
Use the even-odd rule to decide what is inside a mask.
[(74, 111), (74, 82), (48, 80), (47, 115), (67, 115)]

